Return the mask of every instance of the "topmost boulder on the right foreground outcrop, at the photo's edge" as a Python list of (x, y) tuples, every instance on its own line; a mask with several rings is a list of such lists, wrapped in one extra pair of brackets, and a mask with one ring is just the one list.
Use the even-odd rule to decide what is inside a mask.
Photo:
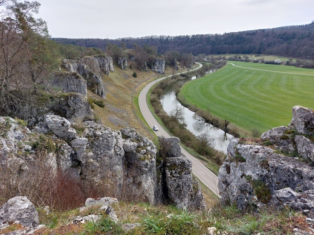
[(314, 112), (310, 108), (294, 106), (292, 108), (291, 125), (300, 134), (311, 134), (314, 131)]

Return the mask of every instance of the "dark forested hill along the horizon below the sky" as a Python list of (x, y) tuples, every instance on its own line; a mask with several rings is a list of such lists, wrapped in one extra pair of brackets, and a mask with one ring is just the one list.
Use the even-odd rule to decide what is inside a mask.
[(186, 36), (147, 36), (122, 39), (54, 38), (62, 44), (74, 44), (105, 50), (108, 43), (133, 48), (133, 44), (157, 46), (158, 52), (170, 50), (201, 54), (270, 54), (291, 57), (314, 55), (314, 21), (306, 25), (257, 29), (225, 34), (197, 34)]

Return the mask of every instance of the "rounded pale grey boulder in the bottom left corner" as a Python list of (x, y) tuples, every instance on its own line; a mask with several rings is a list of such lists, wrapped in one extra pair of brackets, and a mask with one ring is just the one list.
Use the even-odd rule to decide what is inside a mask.
[(8, 226), (8, 222), (19, 223), (26, 228), (35, 228), (39, 225), (39, 217), (35, 206), (27, 197), (17, 196), (0, 207), (0, 229)]

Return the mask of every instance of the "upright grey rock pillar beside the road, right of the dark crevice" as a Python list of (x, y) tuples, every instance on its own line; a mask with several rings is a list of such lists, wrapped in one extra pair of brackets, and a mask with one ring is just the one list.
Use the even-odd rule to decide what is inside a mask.
[(178, 208), (204, 209), (205, 202), (198, 182), (192, 177), (192, 162), (181, 153), (177, 137), (159, 137), (160, 147), (166, 156), (163, 162), (165, 179), (163, 191)]

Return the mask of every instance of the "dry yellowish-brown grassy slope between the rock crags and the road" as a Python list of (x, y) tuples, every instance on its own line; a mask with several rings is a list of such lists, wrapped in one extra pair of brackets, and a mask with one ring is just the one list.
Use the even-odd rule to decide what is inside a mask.
[[(130, 61), (128, 61), (129, 63)], [(134, 64), (134, 63), (133, 63)], [(136, 71), (137, 77), (134, 78), (132, 73)], [(172, 69), (167, 67), (165, 72), (170, 73)], [(133, 100), (132, 100), (132, 91), (133, 88), (139, 83), (148, 78), (149, 81), (152, 81), (160, 76), (164, 76), (160, 73), (153, 72), (148, 70), (148, 72), (139, 71), (136, 69), (136, 66), (133, 66), (133, 69), (127, 68), (127, 70), (122, 70), (117, 64), (114, 63), (114, 72), (110, 73), (110, 76), (106, 76), (104, 73), (101, 74), (102, 81), (106, 88), (106, 100), (103, 100), (99, 96), (95, 95), (91, 91), (88, 94), (98, 100), (103, 100), (105, 107), (101, 108), (94, 104), (94, 111), (100, 116), (103, 124), (115, 130), (120, 130), (121, 128), (130, 127), (138, 130), (142, 135), (153, 138), (154, 135), (147, 130), (139, 121), (133, 113)], [(144, 82), (143, 84), (146, 84)], [(136, 97), (137, 91), (134, 93)], [(136, 104), (134, 109), (137, 109)], [(138, 113), (137, 113), (138, 114)], [(108, 118), (110, 116), (115, 116), (121, 119), (123, 123), (114, 125)], [(126, 125), (125, 125), (126, 124)]]

